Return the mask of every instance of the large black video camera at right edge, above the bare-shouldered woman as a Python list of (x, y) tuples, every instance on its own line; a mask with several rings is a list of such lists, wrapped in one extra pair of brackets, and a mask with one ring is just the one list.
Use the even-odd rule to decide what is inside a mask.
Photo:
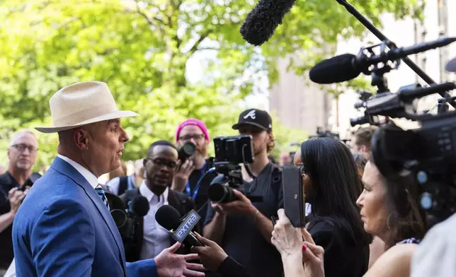
[[(432, 44), (428, 42), (428, 45)], [(372, 70), (376, 68), (374, 64)], [(381, 81), (383, 73), (391, 69), (384, 64), (380, 71), (374, 73), (379, 92), (374, 96), (367, 97), (367, 93), (361, 95), (361, 102), (355, 104), (355, 108), (364, 109), (364, 116), (351, 119), (350, 123), (352, 126), (366, 123), (378, 125), (379, 116), (387, 117), (386, 124), (377, 129), (372, 137), (372, 157), (385, 177), (414, 176), (423, 189), (420, 204), (431, 226), (456, 212), (456, 111), (448, 110), (448, 104), (454, 105), (456, 98), (447, 93), (456, 89), (456, 84), (447, 82), (428, 87), (414, 84), (391, 93), (385, 90), (386, 82)], [(438, 114), (418, 114), (418, 99), (435, 93), (445, 95), (439, 100), (439, 105), (447, 108), (439, 109)], [(404, 130), (389, 118), (420, 122), (421, 128)]]

